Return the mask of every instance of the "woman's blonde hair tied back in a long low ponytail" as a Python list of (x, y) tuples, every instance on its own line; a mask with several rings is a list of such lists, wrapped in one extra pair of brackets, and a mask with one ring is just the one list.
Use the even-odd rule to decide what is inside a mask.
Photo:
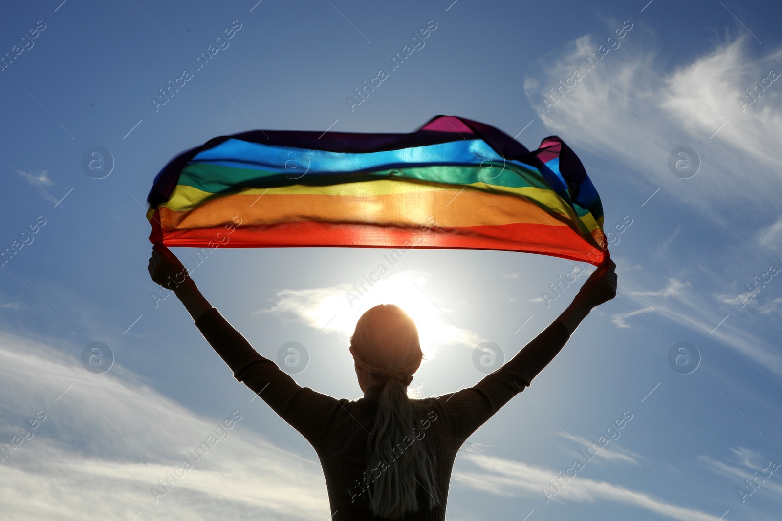
[[(421, 406), (407, 397), (406, 389), (423, 358), (418, 328), (399, 306), (376, 305), (358, 320), (350, 345), (357, 364), (385, 380), (367, 443), (365, 476), (371, 479), (371, 511), (386, 519), (402, 519), (407, 512), (418, 512), (419, 483), (429, 494), (431, 510), (438, 501), (436, 452), (429, 440), (415, 435), (416, 430), (421, 432)], [(404, 438), (411, 443), (403, 443)], [(378, 469), (379, 476), (375, 476)]]

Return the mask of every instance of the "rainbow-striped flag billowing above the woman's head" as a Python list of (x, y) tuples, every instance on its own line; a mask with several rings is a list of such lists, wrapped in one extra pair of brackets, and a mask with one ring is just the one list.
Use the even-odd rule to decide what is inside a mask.
[(253, 130), (172, 159), (149, 192), (152, 243), (199, 248), (479, 248), (599, 264), (600, 197), (564, 141), (529, 152), (485, 123), (411, 134)]

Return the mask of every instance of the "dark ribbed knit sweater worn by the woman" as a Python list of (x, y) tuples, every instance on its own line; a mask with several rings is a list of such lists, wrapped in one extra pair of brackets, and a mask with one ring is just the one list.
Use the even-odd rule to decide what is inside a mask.
[[(355, 401), (332, 398), (296, 384), (274, 361), (258, 354), (217, 309), (204, 312), (195, 324), (233, 370), (236, 380), (244, 382), (312, 444), (325, 475), (332, 521), (379, 521), (381, 518), (369, 510), (368, 494), (364, 491), (371, 484), (371, 476), (365, 474), (367, 441), (382, 387), (368, 388), (364, 398)], [(415, 441), (408, 437), (405, 443), (409, 446), (411, 442), (426, 441), (436, 451), (439, 494), (430, 510), (429, 494), (418, 484), (419, 510), (408, 512), (405, 521), (445, 519), (451, 469), (461, 445), (500, 407), (529, 386), (568, 339), (565, 326), (554, 321), (513, 359), (478, 384), (414, 400), (416, 409), (424, 415), (420, 420), (420, 441), (418, 437)], [(404, 447), (400, 444), (400, 451)]]

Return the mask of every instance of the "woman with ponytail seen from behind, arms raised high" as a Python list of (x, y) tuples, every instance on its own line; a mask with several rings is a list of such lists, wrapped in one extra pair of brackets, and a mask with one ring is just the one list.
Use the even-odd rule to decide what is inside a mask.
[(168, 248), (152, 247), (149, 275), (169, 287), (217, 354), (312, 444), (321, 461), (333, 521), (445, 519), (454, 459), (468, 436), (540, 373), (592, 308), (616, 294), (606, 259), (568, 309), (518, 355), (478, 384), (411, 400), (407, 386), (423, 353), (413, 320), (395, 305), (361, 316), (350, 337), (364, 398), (332, 398), (300, 387), (229, 324), (195, 287)]

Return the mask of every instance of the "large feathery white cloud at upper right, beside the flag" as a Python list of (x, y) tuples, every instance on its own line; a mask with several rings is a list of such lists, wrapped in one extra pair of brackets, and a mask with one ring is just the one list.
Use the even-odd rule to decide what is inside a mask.
[[(712, 219), (727, 219), (733, 213), (708, 187), (749, 222), (777, 208), (782, 191), (782, 77), (744, 112), (737, 98), (769, 69), (782, 70), (776, 61), (780, 50), (749, 55), (747, 39), (738, 37), (669, 72), (647, 40), (651, 38), (636, 27), (626, 34), (621, 48), (606, 55), (547, 109), (551, 88), (560, 80), (564, 84), (574, 69), (585, 70), (580, 59), (597, 48), (590, 36), (580, 37), (568, 52), (545, 58), (540, 78), (526, 81), (529, 102), (546, 127), (569, 144), (640, 173), (633, 178), (641, 193), (662, 186), (657, 198), (674, 198)], [(669, 154), (681, 145), (701, 156), (699, 175), (708, 172), (705, 193), (700, 190), (696, 195), (695, 184), (669, 172)], [(627, 178), (625, 169), (615, 172)], [(752, 175), (746, 175), (749, 172)]]

